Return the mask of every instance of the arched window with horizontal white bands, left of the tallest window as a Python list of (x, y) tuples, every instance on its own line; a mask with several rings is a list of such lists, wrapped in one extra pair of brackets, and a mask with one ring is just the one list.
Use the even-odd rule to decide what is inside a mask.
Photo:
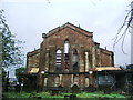
[(61, 50), (57, 50), (55, 54), (55, 70), (61, 71)]

